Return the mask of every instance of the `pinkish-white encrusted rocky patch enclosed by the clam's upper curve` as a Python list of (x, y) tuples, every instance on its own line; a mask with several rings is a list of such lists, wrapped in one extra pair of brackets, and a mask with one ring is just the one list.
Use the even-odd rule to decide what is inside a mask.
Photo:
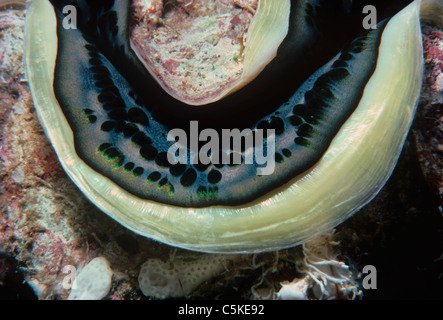
[(149, 57), (142, 59), (166, 88), (181, 98), (201, 99), (240, 77), (250, 1), (164, 1), (164, 7), (159, 2), (133, 4), (132, 43)]

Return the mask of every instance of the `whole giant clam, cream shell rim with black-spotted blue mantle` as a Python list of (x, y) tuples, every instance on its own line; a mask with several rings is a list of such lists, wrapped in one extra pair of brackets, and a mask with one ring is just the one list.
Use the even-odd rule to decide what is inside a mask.
[[(421, 2), (386, 13), (352, 41), (328, 39), (329, 28), (339, 30), (322, 25), (323, 1), (283, 2), (290, 23), (276, 58), (251, 83), (227, 90), (235, 93), (199, 106), (166, 94), (138, 60), (128, 39), (129, 1), (32, 2), (26, 64), (36, 110), (65, 171), (97, 207), (173, 246), (258, 252), (329, 229), (377, 194), (420, 93)], [(77, 29), (63, 27), (68, 4), (77, 7)], [(171, 164), (168, 133), (186, 133), (191, 145), (193, 125), (208, 144), (227, 129), (246, 132), (244, 141), (265, 135), (252, 148), (200, 140)], [(271, 172), (263, 174), (257, 159), (247, 163), (257, 149), (272, 156)], [(232, 163), (236, 156), (241, 163)]]

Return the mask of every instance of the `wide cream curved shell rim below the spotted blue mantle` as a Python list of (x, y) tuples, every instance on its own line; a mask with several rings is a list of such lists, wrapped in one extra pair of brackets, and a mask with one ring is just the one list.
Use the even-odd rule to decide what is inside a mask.
[(391, 175), (420, 93), (419, 12), (420, 2), (414, 1), (387, 24), (363, 97), (321, 160), (284, 186), (239, 206), (182, 208), (143, 200), (86, 165), (52, 86), (56, 20), (46, 0), (33, 1), (28, 11), (27, 75), (39, 119), (63, 168), (116, 221), (143, 236), (196, 251), (275, 250), (336, 226), (367, 204)]

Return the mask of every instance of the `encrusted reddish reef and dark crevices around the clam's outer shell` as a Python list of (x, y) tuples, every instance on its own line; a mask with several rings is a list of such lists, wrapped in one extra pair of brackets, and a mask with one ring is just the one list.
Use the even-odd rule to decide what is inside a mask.
[[(63, 286), (65, 267), (81, 269), (99, 256), (109, 261), (114, 272), (104, 299), (148, 299), (138, 284), (143, 263), (148, 259), (169, 262), (171, 253), (177, 252), (177, 260), (172, 261), (180, 265), (180, 257), (189, 253), (126, 230), (89, 203), (65, 175), (39, 125), (24, 75), (24, 10), (1, 9), (0, 249), (15, 258), (14, 268), (39, 299), (68, 298), (71, 291)], [(379, 282), (384, 285), (374, 291), (363, 290), (363, 298), (442, 298), (443, 268), (438, 259), (443, 228), (437, 210), (442, 205), (442, 37), (436, 28), (426, 26), (423, 30), (427, 71), (414, 135), (379, 196), (339, 226), (332, 242), (329, 238), (323, 238), (324, 242), (313, 239), (303, 248), (238, 256), (227, 269), (220, 263), (214, 277), (190, 286), (188, 298), (352, 298), (362, 289), (357, 290), (355, 283), (359, 283), (358, 274), (366, 264), (378, 268)], [(437, 196), (440, 194), (439, 203), (421, 177), (415, 140), (427, 182)], [(335, 241), (339, 244), (334, 245)], [(319, 254), (316, 248), (327, 251)], [(213, 256), (199, 257), (207, 261)], [(318, 257), (326, 264), (318, 267)], [(217, 256), (214, 259), (217, 261)], [(12, 265), (10, 259), (2, 258), (1, 263), (6, 265), (5, 261)], [(349, 274), (346, 266), (357, 271)], [(331, 291), (335, 284), (328, 279), (332, 269), (341, 275), (345, 272), (346, 281), (337, 274), (335, 278), (350, 296)], [(4, 283), (5, 270), (0, 268)], [(408, 281), (403, 281), (405, 277)]]

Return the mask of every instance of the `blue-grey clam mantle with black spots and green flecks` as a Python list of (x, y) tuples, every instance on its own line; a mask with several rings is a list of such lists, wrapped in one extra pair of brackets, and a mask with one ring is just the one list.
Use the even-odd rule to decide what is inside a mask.
[[(306, 1), (303, 14), (307, 24), (315, 27), (318, 8), (311, 2)], [(57, 8), (65, 3), (54, 1)], [(255, 120), (252, 114), (245, 120), (250, 124), (240, 129), (275, 133), (273, 173), (257, 175), (263, 165), (255, 161), (246, 164), (248, 150), (244, 147), (239, 152), (240, 164), (193, 163), (197, 154), (189, 149), (186, 163), (169, 163), (167, 151), (174, 142), (167, 141), (166, 136), (176, 128), (182, 114), (173, 109), (177, 102), (172, 98), (165, 103), (158, 87), (151, 87), (154, 84), (147, 74), (143, 74), (146, 81), (138, 77), (140, 65), (126, 39), (129, 2), (73, 3), (79, 7), (78, 30), (64, 30), (60, 23), (63, 15), (58, 12), (54, 90), (73, 129), (78, 155), (138, 197), (184, 207), (246, 203), (318, 161), (358, 105), (375, 68), (384, 27), (381, 24), (377, 30), (349, 42), (328, 65), (293, 88), (285, 101), (274, 103)], [(141, 83), (146, 85), (141, 87)], [(248, 110), (250, 106), (244, 107), (243, 103), (241, 100), (237, 108)], [(168, 112), (174, 118), (171, 121), (162, 116)], [(213, 122), (204, 115), (193, 117), (199, 121), (200, 130), (212, 127)], [(189, 120), (183, 113), (179, 125), (185, 131), (189, 131)], [(223, 121), (221, 117), (218, 132), (224, 128)], [(234, 123), (226, 120), (226, 128), (236, 128)], [(265, 138), (256, 148), (266, 150)], [(226, 155), (232, 160), (232, 152), (219, 149), (212, 156)]]

